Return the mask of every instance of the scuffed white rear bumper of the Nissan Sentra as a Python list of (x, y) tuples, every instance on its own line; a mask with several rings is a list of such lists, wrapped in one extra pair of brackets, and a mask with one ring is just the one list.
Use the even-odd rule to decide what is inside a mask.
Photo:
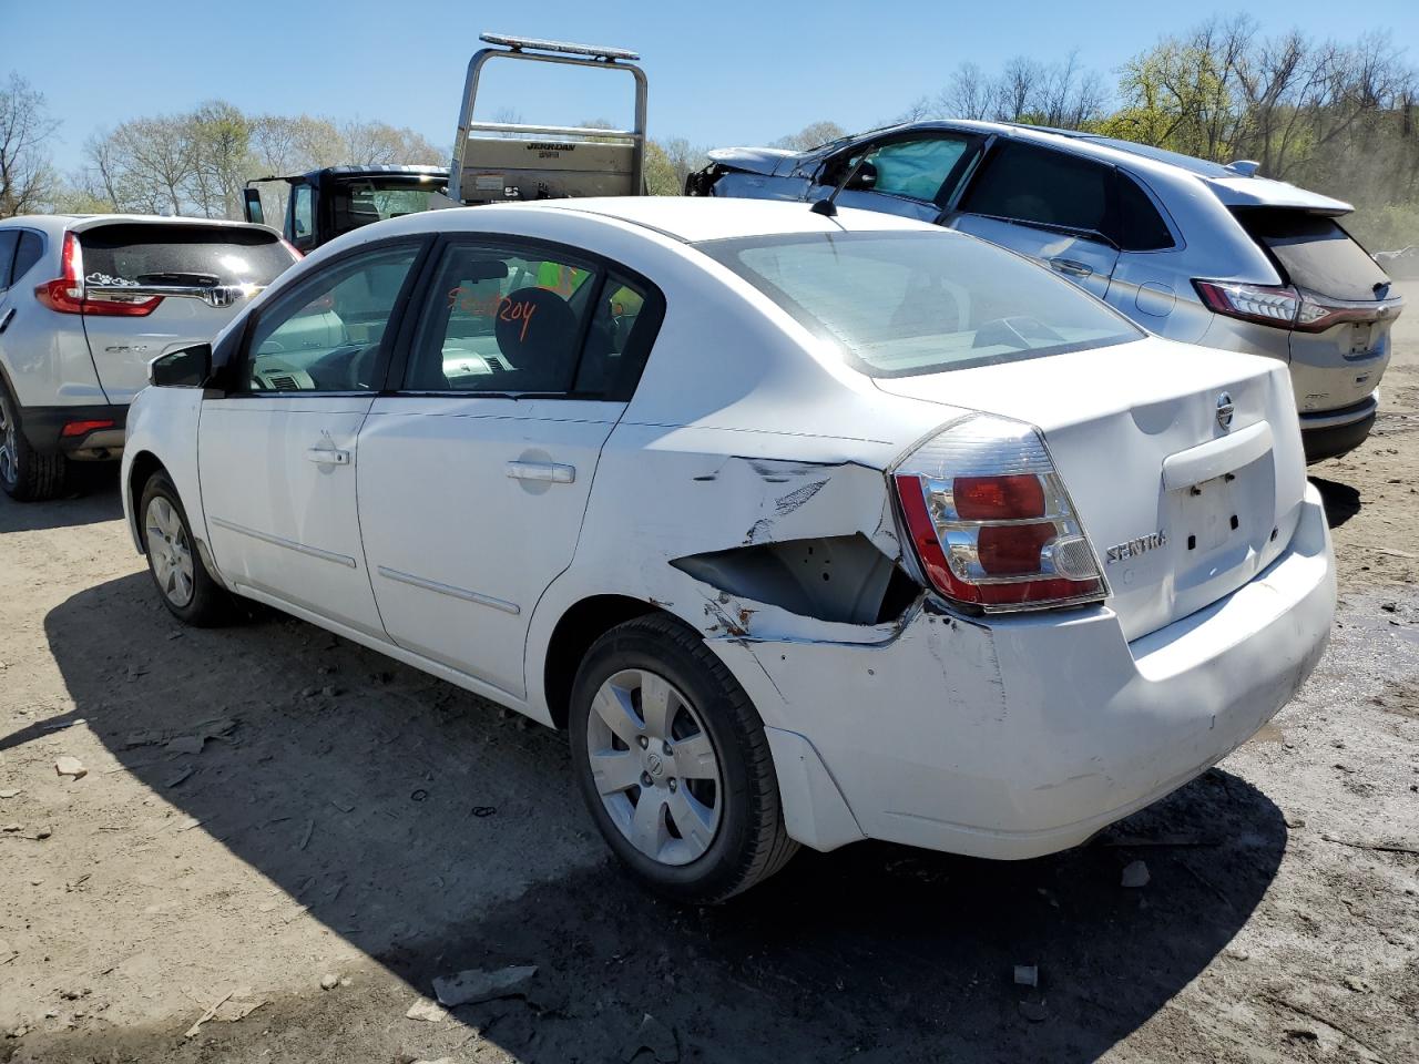
[[(785, 794), (790, 833), (833, 826), (800, 841), (1026, 858), (1083, 843), (1254, 735), (1310, 675), (1334, 609), (1330, 532), (1308, 487), (1271, 566), (1131, 644), (1098, 607), (989, 623), (927, 609), (877, 645), (711, 645), (771, 729), (819, 759), (780, 770), (780, 783), (812, 782)], [(823, 780), (836, 786), (826, 797)], [(850, 820), (833, 813), (839, 794)], [(827, 814), (797, 814), (805, 802)]]

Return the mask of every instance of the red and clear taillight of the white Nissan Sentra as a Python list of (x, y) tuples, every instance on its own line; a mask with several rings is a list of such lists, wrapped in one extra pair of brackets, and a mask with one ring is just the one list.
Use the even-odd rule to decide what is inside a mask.
[(1039, 430), (972, 414), (893, 470), (927, 580), (986, 611), (1100, 602), (1098, 559)]

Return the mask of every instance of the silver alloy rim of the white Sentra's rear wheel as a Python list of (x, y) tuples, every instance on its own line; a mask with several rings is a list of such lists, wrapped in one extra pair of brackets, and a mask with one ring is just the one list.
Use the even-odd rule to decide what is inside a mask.
[(664, 677), (610, 677), (586, 726), (592, 780), (617, 830), (653, 861), (702, 857), (719, 827), (724, 786), (710, 732)]

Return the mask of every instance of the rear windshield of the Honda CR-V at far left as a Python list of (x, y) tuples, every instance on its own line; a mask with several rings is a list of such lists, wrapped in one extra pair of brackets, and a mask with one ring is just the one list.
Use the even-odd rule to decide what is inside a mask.
[(94, 284), (268, 285), (295, 261), (274, 233), (217, 226), (99, 226), (79, 245)]

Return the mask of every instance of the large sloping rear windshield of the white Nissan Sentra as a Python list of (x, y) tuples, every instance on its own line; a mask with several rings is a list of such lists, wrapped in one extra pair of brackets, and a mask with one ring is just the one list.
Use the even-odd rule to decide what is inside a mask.
[(1139, 339), (1043, 267), (952, 233), (839, 233), (698, 245), (874, 377)]

